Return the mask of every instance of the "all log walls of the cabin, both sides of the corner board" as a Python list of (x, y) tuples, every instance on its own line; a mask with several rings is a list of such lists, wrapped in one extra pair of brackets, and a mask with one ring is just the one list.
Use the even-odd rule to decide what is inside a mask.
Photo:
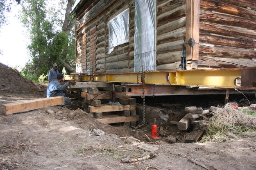
[[(108, 54), (107, 23), (127, 8), (129, 42)], [(77, 72), (134, 72), (134, 0), (91, 1), (77, 14)], [(254, 0), (200, 0), (199, 60), (195, 68), (256, 67), (255, 23)], [(91, 33), (93, 28), (95, 33)], [(157, 71), (180, 70), (188, 29), (186, 0), (157, 0), (156, 29)]]

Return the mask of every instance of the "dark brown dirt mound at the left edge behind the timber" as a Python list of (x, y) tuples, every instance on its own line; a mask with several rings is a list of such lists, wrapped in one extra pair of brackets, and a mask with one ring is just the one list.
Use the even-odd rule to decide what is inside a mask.
[(16, 70), (0, 63), (0, 94), (32, 94), (38, 88)]

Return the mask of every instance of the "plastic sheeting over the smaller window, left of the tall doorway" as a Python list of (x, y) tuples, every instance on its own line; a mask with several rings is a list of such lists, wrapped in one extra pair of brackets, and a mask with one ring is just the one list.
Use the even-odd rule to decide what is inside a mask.
[(129, 9), (118, 14), (108, 22), (109, 26), (109, 54), (114, 47), (129, 41)]

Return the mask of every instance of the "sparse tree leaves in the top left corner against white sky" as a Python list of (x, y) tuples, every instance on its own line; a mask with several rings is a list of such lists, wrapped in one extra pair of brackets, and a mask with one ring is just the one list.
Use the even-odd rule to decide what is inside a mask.
[(0, 28), (7, 22), (6, 13), (11, 11), (11, 5), (20, 0), (0, 0)]

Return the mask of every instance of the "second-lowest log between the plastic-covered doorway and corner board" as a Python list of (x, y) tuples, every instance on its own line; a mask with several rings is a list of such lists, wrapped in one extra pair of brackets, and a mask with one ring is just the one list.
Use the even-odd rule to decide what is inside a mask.
[(181, 61), (182, 51), (173, 51), (170, 53), (158, 54), (156, 64), (175, 63)]

